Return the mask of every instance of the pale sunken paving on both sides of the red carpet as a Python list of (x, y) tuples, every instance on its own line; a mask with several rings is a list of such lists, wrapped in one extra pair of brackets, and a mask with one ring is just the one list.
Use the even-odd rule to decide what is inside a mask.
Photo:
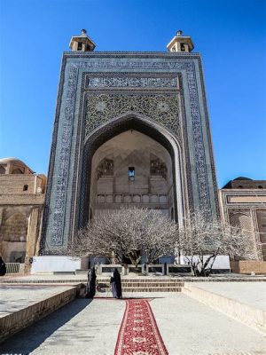
[[(152, 298), (169, 355), (265, 354), (260, 332), (189, 296), (158, 292), (133, 296)], [(122, 300), (76, 299), (1, 343), (0, 353), (113, 355), (124, 310)]]

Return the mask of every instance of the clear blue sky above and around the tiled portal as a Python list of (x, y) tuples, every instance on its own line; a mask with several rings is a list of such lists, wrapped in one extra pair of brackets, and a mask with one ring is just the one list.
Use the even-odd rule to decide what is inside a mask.
[(166, 51), (182, 29), (203, 58), (218, 185), (266, 179), (266, 1), (0, 0), (0, 157), (47, 174), (62, 51)]

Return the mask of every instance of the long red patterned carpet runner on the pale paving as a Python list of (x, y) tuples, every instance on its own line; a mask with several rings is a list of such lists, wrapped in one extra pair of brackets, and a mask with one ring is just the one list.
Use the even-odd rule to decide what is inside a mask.
[(168, 355), (147, 300), (126, 300), (114, 355)]

